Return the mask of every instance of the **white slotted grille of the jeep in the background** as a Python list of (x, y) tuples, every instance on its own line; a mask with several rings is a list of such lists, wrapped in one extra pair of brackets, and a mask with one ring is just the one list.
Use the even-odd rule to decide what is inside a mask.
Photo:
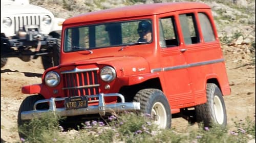
[(24, 25), (39, 25), (40, 27), (40, 16), (16, 16), (14, 17), (14, 32), (15, 34), (19, 30), (20, 27)]

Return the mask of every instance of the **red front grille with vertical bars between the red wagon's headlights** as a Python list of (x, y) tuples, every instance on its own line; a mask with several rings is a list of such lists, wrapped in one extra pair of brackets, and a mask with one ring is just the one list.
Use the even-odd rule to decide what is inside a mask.
[(98, 82), (99, 68), (74, 69), (61, 72), (63, 79), (63, 90), (68, 97), (99, 94)]

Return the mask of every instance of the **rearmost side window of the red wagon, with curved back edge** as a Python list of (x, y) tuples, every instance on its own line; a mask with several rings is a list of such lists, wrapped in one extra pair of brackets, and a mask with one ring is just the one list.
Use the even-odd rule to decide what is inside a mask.
[(205, 42), (215, 41), (214, 30), (211, 26), (208, 16), (204, 13), (198, 13), (200, 25)]

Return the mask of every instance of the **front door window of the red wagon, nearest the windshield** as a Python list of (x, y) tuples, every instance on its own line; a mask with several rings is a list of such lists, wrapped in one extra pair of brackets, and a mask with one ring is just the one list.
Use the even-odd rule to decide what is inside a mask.
[(179, 45), (177, 28), (173, 16), (159, 19), (159, 32), (161, 47), (175, 47)]

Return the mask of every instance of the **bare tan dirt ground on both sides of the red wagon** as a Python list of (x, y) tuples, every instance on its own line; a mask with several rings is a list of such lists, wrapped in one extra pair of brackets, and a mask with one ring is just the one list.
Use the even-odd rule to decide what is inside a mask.
[[(234, 125), (231, 119), (255, 118), (255, 66), (251, 64), (250, 55), (241, 51), (242, 47), (238, 50), (237, 47), (223, 48), (232, 92), (224, 97), (229, 127)], [(21, 88), (40, 83), (43, 72), (40, 58), (30, 62), (9, 58), (7, 65), (1, 68), (1, 142), (19, 141), (16, 123), (18, 108), (28, 96), (21, 93)], [(187, 122), (180, 118), (172, 123), (176, 129), (186, 125)]]

